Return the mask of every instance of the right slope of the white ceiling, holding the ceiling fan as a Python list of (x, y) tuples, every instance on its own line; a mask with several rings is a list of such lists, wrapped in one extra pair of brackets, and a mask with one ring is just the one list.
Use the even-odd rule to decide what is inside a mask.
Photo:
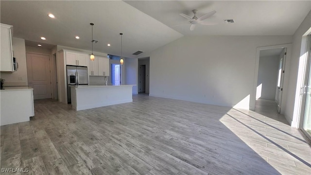
[[(293, 35), (311, 10), (311, 0), (128, 0), (125, 1), (141, 12), (170, 26), (183, 35)], [(198, 10), (197, 17), (216, 11), (206, 21), (217, 25), (197, 25), (190, 31), (184, 13), (193, 17), (192, 10)], [(225, 19), (236, 23), (226, 24)]]

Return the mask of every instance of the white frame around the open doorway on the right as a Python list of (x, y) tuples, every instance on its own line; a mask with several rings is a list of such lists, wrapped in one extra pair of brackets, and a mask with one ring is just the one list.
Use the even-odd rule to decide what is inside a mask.
[[(256, 103), (256, 90), (257, 90), (257, 82), (258, 82), (258, 72), (259, 72), (259, 55), (260, 51), (269, 50), (269, 49), (278, 49), (278, 48), (287, 48), (286, 51), (286, 60), (285, 60), (285, 72), (284, 72), (284, 79), (283, 79), (283, 92), (282, 94), (287, 94), (288, 90), (288, 81), (289, 81), (289, 61), (291, 60), (292, 55), (292, 43), (288, 44), (279, 44), (279, 45), (272, 45), (272, 46), (263, 46), (256, 48), (256, 58), (255, 58), (255, 71), (254, 71), (254, 82), (253, 82), (253, 93), (250, 94), (250, 102), (249, 102), (249, 109), (255, 110), (255, 103)], [(281, 99), (281, 109), (285, 108), (287, 97), (286, 95), (282, 96)], [(284, 114), (284, 111), (281, 111), (281, 114)]]

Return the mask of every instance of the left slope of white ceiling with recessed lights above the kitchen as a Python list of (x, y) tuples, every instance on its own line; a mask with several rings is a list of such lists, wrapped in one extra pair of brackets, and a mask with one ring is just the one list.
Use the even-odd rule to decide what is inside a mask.
[[(182, 37), (180, 33), (123, 1), (0, 1), (1, 23), (13, 25), (14, 36), (25, 40), (136, 57)], [(49, 18), (52, 13), (55, 18)], [(75, 35), (80, 39), (75, 39)], [(41, 40), (44, 36), (47, 39)], [(111, 44), (110, 47), (107, 43)], [(45, 48), (42, 45), (42, 48)]]

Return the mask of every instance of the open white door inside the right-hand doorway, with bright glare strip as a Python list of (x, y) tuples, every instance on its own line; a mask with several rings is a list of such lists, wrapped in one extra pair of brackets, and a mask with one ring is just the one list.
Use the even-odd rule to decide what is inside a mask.
[(277, 103), (277, 112), (281, 112), (281, 102), (282, 102), (282, 91), (283, 91), (283, 80), (285, 72), (285, 59), (286, 59), (286, 48), (282, 52), (284, 53), (280, 59), (277, 75), (277, 87), (276, 87), (276, 103)]

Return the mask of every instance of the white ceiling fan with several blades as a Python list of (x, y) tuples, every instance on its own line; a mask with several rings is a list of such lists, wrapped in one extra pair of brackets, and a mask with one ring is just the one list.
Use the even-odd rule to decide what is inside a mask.
[[(213, 11), (211, 11), (211, 12), (209, 12), (209, 13), (203, 15), (203, 16), (201, 16), (200, 18), (197, 18), (197, 17), (195, 16), (195, 14), (198, 12), (198, 10), (192, 10), (192, 12), (193, 12), (193, 14), (194, 14), (194, 16), (193, 16), (192, 18), (189, 17), (188, 15), (185, 15), (185, 14), (179, 14), (180, 16), (182, 16), (182, 17), (184, 17), (184, 18), (190, 20), (189, 22), (187, 22), (187, 24), (188, 24), (188, 23), (191, 24), (191, 25), (190, 25), (190, 31), (193, 31), (193, 30), (194, 30), (196, 24), (215, 25), (215, 23), (210, 23), (210, 22), (204, 21), (205, 19), (207, 19), (207, 18), (213, 16), (213, 15), (216, 13), (215, 10), (213, 10)], [(177, 25), (180, 25), (180, 24), (177, 24)]]

